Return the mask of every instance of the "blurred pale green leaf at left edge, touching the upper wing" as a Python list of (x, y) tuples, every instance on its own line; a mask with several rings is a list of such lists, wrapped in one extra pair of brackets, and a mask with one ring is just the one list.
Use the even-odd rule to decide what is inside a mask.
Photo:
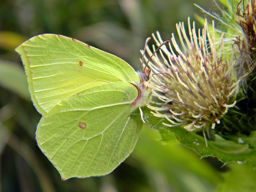
[(0, 60), (0, 85), (30, 100), (26, 75), (18, 64)]

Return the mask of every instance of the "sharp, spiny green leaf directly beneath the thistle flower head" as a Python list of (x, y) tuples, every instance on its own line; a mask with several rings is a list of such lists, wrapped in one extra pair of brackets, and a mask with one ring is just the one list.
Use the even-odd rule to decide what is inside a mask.
[[(203, 136), (200, 136), (195, 132), (188, 132), (179, 126), (172, 128), (164, 126), (162, 122), (168, 123), (166, 119), (155, 117), (150, 113), (150, 110), (146, 108), (143, 108), (143, 112), (144, 116), (146, 117), (146, 121), (152, 128), (158, 130), (165, 129), (168, 130), (169, 134), (175, 134), (176, 138), (181, 144), (191, 148), (201, 157), (217, 157), (224, 163), (248, 161), (250, 164), (252, 164), (252, 166), (256, 166), (256, 150), (254, 147), (256, 134), (254, 132), (252, 132), (250, 137), (241, 135), (237, 136), (236, 138), (232, 138), (232, 140), (227, 140), (216, 135), (216, 139), (214, 141), (207, 141), (208, 147), (206, 147)], [(134, 116), (139, 118), (138, 113), (134, 113)], [(167, 138), (166, 134), (168, 132), (164, 132), (163, 138)], [(244, 141), (243, 143), (238, 142), (240, 137)], [(172, 140), (172, 136), (170, 138)], [(236, 142), (234, 142), (234, 140), (236, 140)]]

